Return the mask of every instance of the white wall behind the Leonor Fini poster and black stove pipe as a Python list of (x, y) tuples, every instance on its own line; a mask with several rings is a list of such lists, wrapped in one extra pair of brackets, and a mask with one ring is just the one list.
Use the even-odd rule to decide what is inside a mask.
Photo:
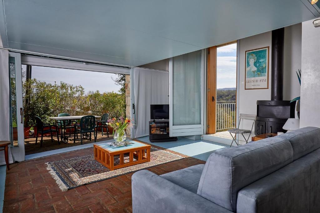
[[(285, 27), (284, 39), (284, 100), (292, 100), (300, 95), (300, 86), (295, 71), (301, 67), (301, 24)], [(245, 90), (245, 51), (267, 46), (269, 46), (269, 88)], [(271, 96), (271, 31), (240, 39), (238, 48), (237, 97), (239, 99), (237, 107), (239, 113), (256, 114), (257, 100), (270, 100)], [(251, 121), (241, 122), (240, 125), (244, 129), (251, 129), (251, 126)]]

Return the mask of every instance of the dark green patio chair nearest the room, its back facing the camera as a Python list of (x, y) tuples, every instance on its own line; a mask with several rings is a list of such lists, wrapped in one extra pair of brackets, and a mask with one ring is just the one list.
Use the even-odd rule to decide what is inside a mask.
[(76, 133), (80, 133), (80, 140), (81, 140), (81, 145), (82, 145), (82, 138), (85, 137), (88, 133), (90, 134), (90, 141), (91, 141), (91, 133), (93, 132), (94, 136), (94, 142), (96, 142), (96, 135), (95, 135), (95, 124), (96, 124), (96, 118), (93, 115), (86, 115), (81, 118), (80, 120), (80, 125), (76, 124), (76, 129), (74, 133), (74, 138), (73, 142), (76, 142)]

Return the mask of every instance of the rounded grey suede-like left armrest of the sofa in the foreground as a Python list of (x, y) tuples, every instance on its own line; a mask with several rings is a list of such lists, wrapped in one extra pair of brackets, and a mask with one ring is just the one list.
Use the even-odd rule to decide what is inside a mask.
[(131, 182), (133, 213), (231, 212), (148, 170), (135, 172)]

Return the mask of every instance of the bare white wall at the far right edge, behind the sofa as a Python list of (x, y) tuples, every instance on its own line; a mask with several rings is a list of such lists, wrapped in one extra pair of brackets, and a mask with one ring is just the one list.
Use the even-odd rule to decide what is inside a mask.
[(300, 127), (320, 127), (320, 27), (302, 22)]

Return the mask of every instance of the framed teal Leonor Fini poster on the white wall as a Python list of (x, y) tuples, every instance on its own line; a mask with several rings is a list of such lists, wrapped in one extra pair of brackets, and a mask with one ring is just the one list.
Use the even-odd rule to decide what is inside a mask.
[(269, 88), (269, 47), (245, 51), (245, 89)]

